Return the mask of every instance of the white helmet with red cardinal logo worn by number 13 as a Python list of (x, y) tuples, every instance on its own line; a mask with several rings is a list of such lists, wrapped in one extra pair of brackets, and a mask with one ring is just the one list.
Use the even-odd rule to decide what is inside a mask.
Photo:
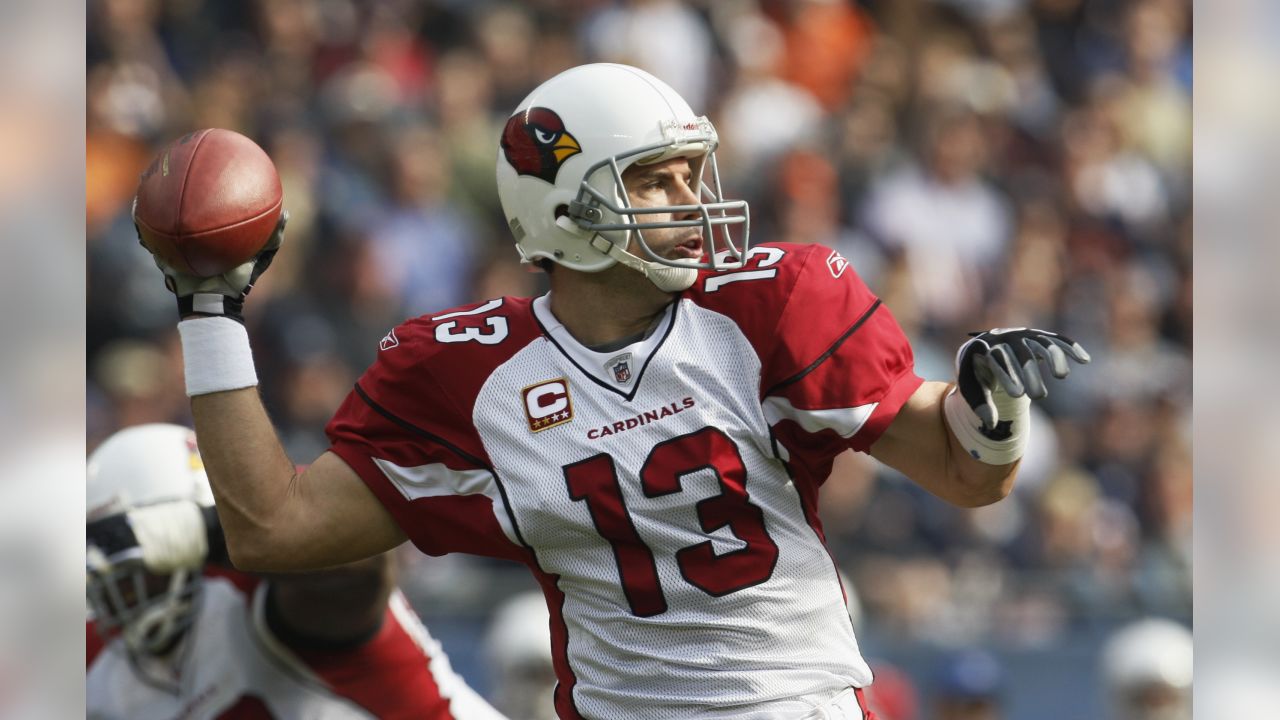
[[(739, 266), (748, 247), (748, 206), (723, 197), (718, 143), (710, 120), (637, 68), (600, 63), (550, 78), (521, 101), (498, 149), (498, 196), (521, 259), (589, 273), (622, 263), (667, 292), (692, 284), (699, 268)], [(700, 202), (644, 211), (698, 217), (639, 222), (622, 172), (671, 158), (689, 158)], [(730, 225), (736, 224), (742, 228), (735, 243)], [(704, 259), (655, 254), (644, 229), (669, 227), (701, 228)], [(631, 240), (640, 255), (627, 251)]]

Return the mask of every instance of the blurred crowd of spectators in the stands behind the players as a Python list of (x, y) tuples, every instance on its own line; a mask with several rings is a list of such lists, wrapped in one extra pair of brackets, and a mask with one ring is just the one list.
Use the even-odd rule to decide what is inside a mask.
[[(1189, 625), (1190, 6), (1184, 0), (91, 0), (88, 448), (189, 424), (173, 297), (137, 245), (138, 174), (224, 127), (275, 160), (291, 220), (248, 302), (262, 393), (297, 462), (388, 328), (544, 290), (517, 263), (497, 138), (584, 61), (662, 77), (719, 129), (753, 242), (849, 258), (948, 379), (969, 331), (1061, 331), (1093, 363), (1036, 405), (1015, 493), (952, 509), (865, 456), (822, 495), (864, 653), (904, 696), (983, 648), (1007, 717), (1102, 716), (1098, 652)], [(408, 551), (402, 584), (454, 666), (518, 566)], [(884, 680), (886, 687), (892, 680)], [(1061, 702), (1053, 702), (1057, 698)], [(932, 717), (922, 700), (890, 720)], [(906, 707), (906, 706), (904, 706)], [(918, 714), (916, 714), (918, 712)], [(888, 712), (886, 712), (888, 715)]]

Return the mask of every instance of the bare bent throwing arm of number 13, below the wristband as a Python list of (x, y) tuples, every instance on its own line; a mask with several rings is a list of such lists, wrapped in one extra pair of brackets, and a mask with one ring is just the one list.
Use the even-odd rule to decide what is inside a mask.
[(257, 388), (197, 395), (191, 410), (236, 568), (320, 570), (404, 542), (383, 503), (337, 455), (325, 452), (297, 471)]

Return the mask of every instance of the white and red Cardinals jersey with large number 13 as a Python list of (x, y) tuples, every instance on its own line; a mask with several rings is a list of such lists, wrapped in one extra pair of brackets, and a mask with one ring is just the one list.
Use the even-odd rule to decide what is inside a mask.
[(844, 258), (749, 260), (609, 352), (545, 296), (411, 320), (329, 424), (424, 552), (530, 566), (561, 717), (801, 717), (872, 682), (818, 488), (922, 380)]

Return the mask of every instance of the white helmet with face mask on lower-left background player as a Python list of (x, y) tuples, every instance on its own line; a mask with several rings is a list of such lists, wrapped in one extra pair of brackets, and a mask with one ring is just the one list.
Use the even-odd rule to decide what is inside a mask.
[[(92, 523), (134, 507), (174, 500), (214, 503), (196, 433), (170, 424), (137, 425), (109, 437), (88, 456), (87, 518)], [(88, 602), (97, 629), (119, 630), (132, 653), (173, 647), (191, 625), (200, 570), (155, 575), (142, 562), (95, 562), (90, 553)]]

